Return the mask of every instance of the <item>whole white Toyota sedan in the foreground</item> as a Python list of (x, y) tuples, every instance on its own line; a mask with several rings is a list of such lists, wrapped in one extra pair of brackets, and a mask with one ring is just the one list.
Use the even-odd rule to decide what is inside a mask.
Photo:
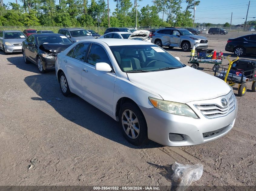
[(56, 77), (64, 96), (77, 94), (111, 116), (134, 145), (213, 141), (232, 129), (238, 110), (224, 81), (142, 40), (77, 42), (58, 54)]

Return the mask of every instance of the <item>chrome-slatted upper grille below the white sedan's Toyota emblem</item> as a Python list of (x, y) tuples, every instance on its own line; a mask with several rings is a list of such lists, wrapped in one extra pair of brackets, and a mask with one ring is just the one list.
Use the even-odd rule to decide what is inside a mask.
[[(221, 99), (221, 98), (220, 98)], [(228, 115), (235, 109), (235, 97), (234, 94), (231, 93), (231, 96), (228, 98), (228, 106), (221, 107), (218, 104), (200, 104), (194, 105), (201, 111), (201, 113), (208, 119), (222, 117)]]

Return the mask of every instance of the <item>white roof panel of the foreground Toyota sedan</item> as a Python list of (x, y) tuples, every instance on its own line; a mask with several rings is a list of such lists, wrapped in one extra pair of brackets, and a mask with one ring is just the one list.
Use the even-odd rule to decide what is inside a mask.
[(98, 39), (88, 39), (88, 40), (80, 40), (79, 42), (98, 42), (105, 43), (108, 46), (125, 46), (125, 45), (152, 45), (150, 42), (146, 42), (143, 40), (130, 40), (130, 39), (114, 39), (114, 38), (98, 38)]

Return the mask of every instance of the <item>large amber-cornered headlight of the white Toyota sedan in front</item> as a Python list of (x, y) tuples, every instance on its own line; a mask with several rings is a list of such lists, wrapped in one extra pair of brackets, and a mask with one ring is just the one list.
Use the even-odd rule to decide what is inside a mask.
[(177, 103), (172, 101), (159, 100), (153, 97), (148, 97), (152, 105), (158, 110), (176, 115), (183, 115), (193, 118), (198, 118), (194, 111), (184, 103)]

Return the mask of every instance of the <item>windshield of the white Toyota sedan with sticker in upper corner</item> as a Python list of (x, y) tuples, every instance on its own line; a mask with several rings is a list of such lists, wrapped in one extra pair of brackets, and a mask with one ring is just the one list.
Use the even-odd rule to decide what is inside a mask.
[(185, 66), (154, 44), (110, 46), (110, 49), (123, 72), (153, 72)]

